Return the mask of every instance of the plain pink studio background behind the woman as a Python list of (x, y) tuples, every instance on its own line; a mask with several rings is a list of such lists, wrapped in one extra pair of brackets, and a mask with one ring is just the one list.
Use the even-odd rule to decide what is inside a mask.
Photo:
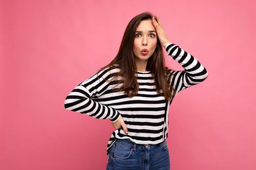
[(65, 110), (64, 99), (116, 56), (130, 19), (149, 11), (170, 41), (209, 71), (170, 107), (171, 169), (255, 170), (255, 6), (253, 0), (1, 0), (0, 169), (105, 169), (111, 122)]

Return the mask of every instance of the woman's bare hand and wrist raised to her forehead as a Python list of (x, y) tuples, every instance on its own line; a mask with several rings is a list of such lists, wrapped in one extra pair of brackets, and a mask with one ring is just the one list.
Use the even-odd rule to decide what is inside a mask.
[[(157, 20), (156, 20), (157, 19)], [(165, 47), (168, 43), (170, 43), (169, 39), (167, 38), (166, 34), (164, 33), (162, 29), (162, 23), (159, 19), (159, 16), (157, 18), (152, 17), (152, 23), (157, 31), (158, 38), (160, 40), (160, 43), (163, 47)]]

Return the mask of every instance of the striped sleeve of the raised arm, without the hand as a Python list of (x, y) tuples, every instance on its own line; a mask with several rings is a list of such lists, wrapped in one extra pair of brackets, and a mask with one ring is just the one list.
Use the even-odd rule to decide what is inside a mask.
[(173, 74), (171, 81), (177, 89), (176, 93), (192, 85), (197, 85), (208, 77), (206, 68), (195, 57), (179, 48), (176, 44), (167, 44), (165, 50), (185, 69), (179, 71), (171, 70)]

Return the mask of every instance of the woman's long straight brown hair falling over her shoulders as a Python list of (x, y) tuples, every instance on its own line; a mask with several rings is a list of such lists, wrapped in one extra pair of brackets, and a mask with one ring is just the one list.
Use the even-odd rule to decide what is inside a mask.
[[(153, 15), (150, 12), (144, 12), (133, 17), (125, 29), (117, 56), (108, 65), (98, 70), (100, 72), (105, 68), (119, 68), (120, 71), (114, 77), (122, 77), (123, 81), (117, 82), (118, 84), (123, 83), (123, 85), (115, 89), (115, 91), (124, 91), (128, 97), (133, 97), (138, 93), (138, 82), (135, 76), (137, 67), (133, 53), (136, 29), (140, 21), (152, 20), (152, 17)], [(165, 66), (163, 50), (159, 39), (154, 53), (148, 59), (146, 70), (151, 71), (158, 94), (164, 96), (166, 102), (172, 100), (176, 89), (171, 85), (171, 72)], [(160, 92), (161, 89), (162, 93)]]

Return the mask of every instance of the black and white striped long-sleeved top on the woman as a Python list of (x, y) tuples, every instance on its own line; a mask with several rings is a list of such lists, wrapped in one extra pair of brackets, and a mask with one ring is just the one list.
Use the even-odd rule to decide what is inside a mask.
[[(170, 69), (172, 75), (169, 80), (176, 89), (174, 96), (208, 77), (206, 68), (176, 44), (167, 44), (165, 50), (167, 55), (172, 56), (184, 68)], [(112, 89), (120, 87), (122, 83), (117, 85), (113, 83), (116, 81), (106, 80), (112, 79), (118, 71), (119, 68), (105, 68), (99, 71), (99, 79), (97, 73), (86, 79), (77, 85), (64, 101), (65, 109), (96, 119), (110, 119), (115, 122), (121, 115), (129, 133), (126, 135), (121, 126), (111, 134), (107, 143), (107, 156), (116, 138), (128, 138), (137, 144), (158, 144), (166, 139), (169, 107), (173, 100), (165, 102), (164, 97), (157, 93), (151, 71), (136, 71), (139, 89), (134, 97), (129, 98), (124, 91), (113, 92)]]

